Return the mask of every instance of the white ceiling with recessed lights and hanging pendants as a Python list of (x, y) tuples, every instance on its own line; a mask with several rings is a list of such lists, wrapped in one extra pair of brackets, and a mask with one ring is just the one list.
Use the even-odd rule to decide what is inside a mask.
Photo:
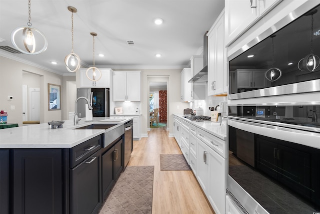
[[(47, 38), (47, 50), (38, 55), (0, 56), (26, 61), (58, 74), (70, 75), (64, 57), (71, 53), (71, 12), (74, 13), (74, 53), (85, 68), (183, 68), (192, 55), (201, 53), (203, 35), (224, 8), (224, 0), (31, 0), (32, 27)], [(161, 26), (155, 18), (164, 20)], [(13, 45), (10, 34), (28, 22), (28, 0), (0, 0), (0, 46)], [(134, 41), (133, 46), (126, 41)], [(201, 49), (202, 48), (202, 49)], [(98, 57), (98, 54), (104, 57)], [(161, 54), (156, 58), (155, 54)], [(57, 65), (51, 65), (56, 61)]]

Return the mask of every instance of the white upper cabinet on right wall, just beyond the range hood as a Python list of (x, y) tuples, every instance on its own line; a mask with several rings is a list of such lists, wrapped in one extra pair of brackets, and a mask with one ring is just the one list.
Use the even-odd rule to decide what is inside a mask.
[(191, 69), (184, 68), (181, 71), (181, 102), (192, 101), (192, 83), (188, 83), (191, 79)]

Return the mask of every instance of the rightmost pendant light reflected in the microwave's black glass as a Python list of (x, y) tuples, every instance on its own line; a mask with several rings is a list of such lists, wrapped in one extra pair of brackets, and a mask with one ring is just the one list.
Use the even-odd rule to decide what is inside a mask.
[(306, 55), (304, 58), (300, 59), (298, 62), (298, 69), (300, 71), (308, 71), (313, 72), (320, 64), (320, 59), (318, 56), (313, 54), (312, 43), (313, 43), (313, 15), (317, 12), (317, 10), (313, 10), (305, 16), (311, 16), (311, 44), (310, 50), (311, 54)]

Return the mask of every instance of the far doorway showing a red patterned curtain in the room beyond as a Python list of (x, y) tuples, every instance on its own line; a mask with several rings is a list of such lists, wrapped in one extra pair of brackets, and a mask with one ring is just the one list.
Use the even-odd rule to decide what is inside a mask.
[(149, 82), (149, 127), (167, 124), (167, 82)]

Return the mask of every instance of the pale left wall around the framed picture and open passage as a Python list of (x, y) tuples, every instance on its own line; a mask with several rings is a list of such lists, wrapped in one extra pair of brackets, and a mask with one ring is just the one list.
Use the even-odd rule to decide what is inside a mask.
[[(21, 63), (12, 59), (0, 56), (0, 110), (8, 112), (8, 123), (18, 123), (22, 126), (22, 71), (36, 74), (39, 77), (40, 88), (40, 123), (51, 120), (62, 120), (62, 112), (65, 103), (61, 103), (61, 110), (48, 111), (47, 84), (61, 85), (61, 99), (65, 96), (63, 77), (61, 75), (45, 71), (43, 69)], [(75, 78), (72, 77), (75, 81)], [(13, 96), (8, 101), (7, 96)], [(14, 110), (10, 110), (14, 106)]]

